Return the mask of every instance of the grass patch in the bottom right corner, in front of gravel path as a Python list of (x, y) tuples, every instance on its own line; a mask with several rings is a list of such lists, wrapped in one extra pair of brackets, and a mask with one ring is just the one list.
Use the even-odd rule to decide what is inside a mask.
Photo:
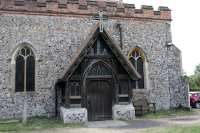
[(200, 133), (199, 124), (189, 124), (189, 125), (174, 125), (166, 127), (154, 127), (146, 129), (146, 133)]

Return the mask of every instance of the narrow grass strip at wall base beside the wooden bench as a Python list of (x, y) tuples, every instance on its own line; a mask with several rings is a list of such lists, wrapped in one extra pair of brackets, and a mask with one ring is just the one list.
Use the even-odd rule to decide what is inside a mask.
[(137, 119), (141, 118), (167, 118), (173, 116), (186, 116), (186, 115), (197, 115), (197, 112), (191, 109), (191, 111), (187, 111), (184, 109), (175, 109), (175, 110), (163, 110), (163, 111), (150, 111), (149, 113), (145, 113), (143, 117), (136, 116)]

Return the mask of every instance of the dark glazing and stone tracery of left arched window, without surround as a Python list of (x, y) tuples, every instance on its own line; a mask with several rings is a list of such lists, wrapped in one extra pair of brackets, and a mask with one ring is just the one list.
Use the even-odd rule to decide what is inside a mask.
[(15, 91), (35, 91), (35, 59), (28, 47), (21, 48), (16, 56)]

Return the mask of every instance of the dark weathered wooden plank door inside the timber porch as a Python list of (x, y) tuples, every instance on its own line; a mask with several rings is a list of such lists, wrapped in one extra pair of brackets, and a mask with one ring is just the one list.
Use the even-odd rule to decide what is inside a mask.
[(106, 80), (91, 80), (87, 85), (88, 120), (110, 120), (112, 116), (111, 85)]

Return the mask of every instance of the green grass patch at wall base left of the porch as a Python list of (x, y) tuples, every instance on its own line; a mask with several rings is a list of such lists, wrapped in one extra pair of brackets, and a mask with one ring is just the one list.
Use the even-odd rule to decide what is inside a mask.
[(78, 126), (82, 126), (82, 124), (63, 123), (60, 118), (33, 117), (28, 118), (27, 125), (22, 125), (22, 123), (0, 124), (0, 132), (45, 130)]

